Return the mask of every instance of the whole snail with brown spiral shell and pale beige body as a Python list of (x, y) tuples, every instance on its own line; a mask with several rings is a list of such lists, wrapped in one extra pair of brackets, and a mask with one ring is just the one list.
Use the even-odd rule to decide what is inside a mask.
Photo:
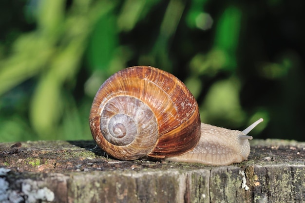
[(97, 91), (89, 123), (96, 144), (119, 160), (153, 157), (227, 165), (248, 159), (248, 132), (200, 121), (191, 92), (172, 74), (151, 66), (118, 71)]

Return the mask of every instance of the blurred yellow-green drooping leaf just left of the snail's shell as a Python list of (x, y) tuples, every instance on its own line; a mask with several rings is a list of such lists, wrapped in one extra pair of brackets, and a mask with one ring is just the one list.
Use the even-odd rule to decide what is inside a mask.
[[(74, 78), (80, 59), (80, 47), (83, 41), (74, 41), (64, 48), (50, 64), (46, 76), (38, 83), (31, 103), (31, 122), (41, 136), (54, 134), (62, 116), (62, 99), (60, 89), (63, 82)], [(44, 138), (46, 139), (46, 138)]]

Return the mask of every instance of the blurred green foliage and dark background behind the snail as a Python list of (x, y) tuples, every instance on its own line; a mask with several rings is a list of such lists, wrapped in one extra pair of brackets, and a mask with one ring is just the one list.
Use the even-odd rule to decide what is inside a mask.
[(305, 141), (302, 6), (222, 2), (1, 1), (0, 142), (92, 139), (97, 89), (133, 65), (184, 81), (202, 122)]

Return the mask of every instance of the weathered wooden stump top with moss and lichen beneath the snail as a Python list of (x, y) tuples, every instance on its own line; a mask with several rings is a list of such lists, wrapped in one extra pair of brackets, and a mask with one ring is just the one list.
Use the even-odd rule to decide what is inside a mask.
[(0, 202), (305, 202), (305, 142), (252, 140), (228, 166), (119, 161), (94, 141), (0, 143)]

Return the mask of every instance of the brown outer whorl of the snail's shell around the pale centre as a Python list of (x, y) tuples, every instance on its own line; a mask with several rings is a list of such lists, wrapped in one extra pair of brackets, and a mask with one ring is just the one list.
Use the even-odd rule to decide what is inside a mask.
[[(132, 145), (131, 152), (128, 152), (129, 149), (125, 146), (107, 142), (100, 132), (101, 111), (111, 98), (118, 96), (137, 98), (155, 115), (152, 122), (141, 123), (144, 120), (140, 119), (136, 123), (149, 125), (149, 128), (157, 126), (157, 129), (151, 130), (152, 134), (157, 133), (157, 138), (148, 135), (150, 130), (145, 131), (141, 139), (127, 145)], [(144, 150), (146, 144), (150, 142), (152, 145), (152, 140), (158, 141), (153, 144), (154, 149), (148, 150), (149, 156), (165, 157), (185, 153), (192, 149), (200, 138), (199, 109), (191, 92), (172, 74), (149, 66), (126, 68), (107, 79), (95, 96), (89, 120), (97, 144), (108, 154), (123, 160), (145, 156), (143, 153), (147, 153), (147, 150)], [(157, 124), (152, 124), (154, 122)], [(134, 152), (137, 154), (130, 155)]]

